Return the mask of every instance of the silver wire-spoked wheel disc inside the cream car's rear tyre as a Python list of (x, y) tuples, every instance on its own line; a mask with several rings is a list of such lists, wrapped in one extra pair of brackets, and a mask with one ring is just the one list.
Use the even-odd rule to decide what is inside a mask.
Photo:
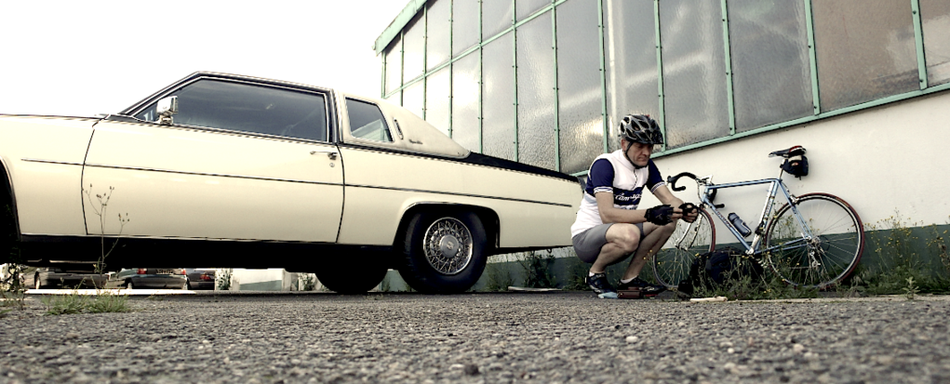
[(426, 229), (423, 250), (426, 260), (437, 272), (455, 275), (472, 261), (472, 233), (454, 217), (438, 219)]

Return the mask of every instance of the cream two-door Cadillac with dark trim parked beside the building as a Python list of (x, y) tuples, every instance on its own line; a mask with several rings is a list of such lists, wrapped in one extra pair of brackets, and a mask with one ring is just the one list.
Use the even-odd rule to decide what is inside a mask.
[(0, 160), (0, 229), (27, 264), (116, 243), (109, 270), (277, 267), (338, 292), (389, 268), (465, 291), (488, 255), (570, 245), (580, 200), (574, 177), (472, 153), (401, 107), (221, 73), (102, 118), (0, 115)]

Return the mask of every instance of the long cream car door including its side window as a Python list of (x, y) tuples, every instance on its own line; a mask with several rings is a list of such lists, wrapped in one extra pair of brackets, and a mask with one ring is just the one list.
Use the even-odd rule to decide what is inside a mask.
[[(328, 93), (199, 78), (179, 113), (95, 126), (82, 178), (87, 233), (335, 242), (343, 167)], [(121, 216), (120, 216), (121, 215)]]

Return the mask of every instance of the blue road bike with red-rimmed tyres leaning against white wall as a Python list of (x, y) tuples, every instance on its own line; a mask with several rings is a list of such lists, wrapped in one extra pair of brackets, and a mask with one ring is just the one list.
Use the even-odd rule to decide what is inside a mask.
[[(716, 249), (716, 227), (710, 212), (735, 236), (739, 248), (744, 249), (740, 256), (752, 257), (789, 285), (824, 289), (848, 277), (864, 251), (861, 218), (850, 204), (835, 195), (816, 192), (796, 196), (789, 191), (782, 176), (786, 171), (798, 177), (807, 175), (804, 153), (805, 149), (800, 146), (770, 153), (769, 157), (785, 159), (777, 178), (714, 184), (712, 175), (696, 177), (683, 172), (669, 177), (667, 182), (674, 191), (686, 189), (676, 186), (682, 177), (696, 182), (699, 216), (692, 223), (678, 221), (676, 230), (653, 258), (657, 281), (676, 288), (680, 281), (688, 278), (690, 266), (698, 255)], [(790, 161), (804, 161), (804, 174), (800, 168), (787, 166)], [(769, 187), (760, 222), (746, 227), (741, 219), (737, 225), (723, 216), (720, 209), (725, 205), (715, 203), (717, 191), (754, 185)], [(776, 202), (776, 196), (785, 198), (777, 210), (774, 208), (782, 202)], [(747, 240), (750, 235), (751, 240)]]

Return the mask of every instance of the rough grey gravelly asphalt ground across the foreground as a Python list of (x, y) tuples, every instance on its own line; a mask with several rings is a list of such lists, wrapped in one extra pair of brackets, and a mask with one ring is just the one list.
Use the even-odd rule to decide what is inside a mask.
[(133, 297), (0, 318), (0, 382), (948, 383), (950, 298)]

